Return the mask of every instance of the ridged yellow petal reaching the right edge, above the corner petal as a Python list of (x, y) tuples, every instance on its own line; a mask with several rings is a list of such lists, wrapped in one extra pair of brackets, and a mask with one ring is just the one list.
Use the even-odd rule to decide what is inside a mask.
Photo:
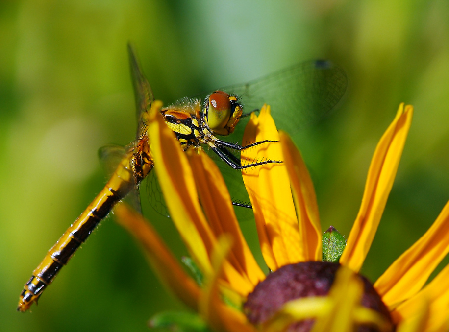
[(428, 231), (375, 282), (383, 302), (394, 307), (415, 295), (448, 252), (449, 202)]

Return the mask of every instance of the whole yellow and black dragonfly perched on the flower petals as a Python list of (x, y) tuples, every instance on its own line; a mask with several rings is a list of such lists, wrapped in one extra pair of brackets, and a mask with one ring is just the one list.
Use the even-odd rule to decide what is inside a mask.
[[(139, 184), (154, 166), (146, 124), (154, 96), (129, 44), (128, 54), (138, 121), (136, 139), (128, 145), (125, 155), (104, 188), (33, 271), (20, 294), (18, 311), (25, 312), (34, 302), (37, 303), (42, 292), (53, 282), (61, 268), (68, 263), (100, 221), (128, 193), (138, 190)], [(284, 88), (281, 99), (273, 91), (279, 87)], [(240, 159), (232, 151), (238, 152), (275, 141), (240, 145), (217, 137), (232, 134), (240, 119), (246, 117), (239, 96), (245, 98), (246, 107), (250, 110), (260, 107), (263, 102), (270, 102), (272, 107), (274, 105), (273, 109), (279, 107), (279, 110), (287, 110), (284, 113), (279, 111), (281, 120), (290, 112), (289, 117), (293, 117), (295, 121), (310, 122), (329, 112), (345, 94), (346, 87), (346, 74), (340, 67), (325, 61), (309, 61), (247, 84), (215, 90), (205, 98), (183, 98), (160, 112), (184, 151), (189, 148), (201, 149), (201, 145), (206, 145), (228, 166), (244, 169), (281, 161), (263, 160), (241, 165)], [(295, 109), (300, 112), (294, 112)]]

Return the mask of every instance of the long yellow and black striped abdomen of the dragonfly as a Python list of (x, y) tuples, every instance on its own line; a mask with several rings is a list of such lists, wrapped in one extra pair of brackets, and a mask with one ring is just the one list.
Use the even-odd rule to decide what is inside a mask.
[(69, 229), (49, 250), (44, 260), (33, 271), (31, 279), (20, 294), (17, 310), (26, 311), (49, 285), (59, 270), (67, 264), (76, 249), (97, 227), (101, 219), (124, 198), (130, 190), (150, 172), (153, 162), (148, 148), (148, 139), (140, 139), (117, 167), (106, 186), (94, 201), (76, 219)]

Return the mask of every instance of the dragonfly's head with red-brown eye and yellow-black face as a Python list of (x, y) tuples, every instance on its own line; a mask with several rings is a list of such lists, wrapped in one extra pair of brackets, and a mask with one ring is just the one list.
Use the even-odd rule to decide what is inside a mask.
[(242, 117), (242, 105), (237, 96), (214, 91), (205, 100), (204, 116), (211, 131), (229, 135)]

